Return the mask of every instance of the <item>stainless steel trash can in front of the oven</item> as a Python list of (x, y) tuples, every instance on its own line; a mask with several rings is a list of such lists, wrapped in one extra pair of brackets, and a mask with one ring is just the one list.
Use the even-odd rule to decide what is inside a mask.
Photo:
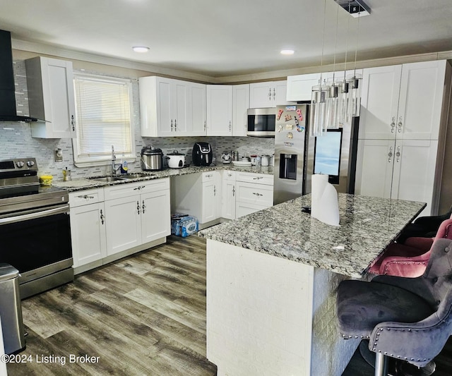
[(0, 317), (5, 353), (23, 350), (25, 333), (19, 293), (19, 271), (5, 263), (0, 263)]

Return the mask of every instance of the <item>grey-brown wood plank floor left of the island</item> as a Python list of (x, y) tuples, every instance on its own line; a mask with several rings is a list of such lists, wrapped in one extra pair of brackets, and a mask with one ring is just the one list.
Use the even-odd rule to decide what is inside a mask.
[(169, 237), (25, 299), (28, 361), (8, 363), (8, 375), (216, 375), (206, 360), (205, 244)]

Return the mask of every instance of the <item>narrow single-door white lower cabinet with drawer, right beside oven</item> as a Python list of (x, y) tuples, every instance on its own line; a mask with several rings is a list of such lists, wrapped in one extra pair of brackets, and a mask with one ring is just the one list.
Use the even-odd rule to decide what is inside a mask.
[(69, 194), (74, 267), (81, 267), (107, 256), (103, 201), (103, 188)]

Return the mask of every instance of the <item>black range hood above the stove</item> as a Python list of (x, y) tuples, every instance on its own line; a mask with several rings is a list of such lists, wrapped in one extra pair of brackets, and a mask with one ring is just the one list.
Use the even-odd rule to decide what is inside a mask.
[(16, 111), (11, 32), (0, 30), (0, 121), (38, 121)]

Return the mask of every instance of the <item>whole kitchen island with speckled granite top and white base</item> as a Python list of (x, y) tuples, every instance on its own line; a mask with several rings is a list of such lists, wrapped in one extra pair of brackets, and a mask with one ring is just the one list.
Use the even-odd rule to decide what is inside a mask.
[(340, 226), (303, 212), (310, 195), (201, 231), (207, 238), (207, 357), (218, 375), (341, 375), (335, 291), (425, 204), (339, 194)]

